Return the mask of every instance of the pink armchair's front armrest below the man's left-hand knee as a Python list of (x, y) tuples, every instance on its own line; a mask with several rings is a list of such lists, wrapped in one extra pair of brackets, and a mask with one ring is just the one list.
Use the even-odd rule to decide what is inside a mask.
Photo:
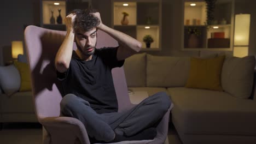
[(73, 117), (44, 117), (39, 122), (48, 132), (46, 139), (53, 143), (80, 143), (90, 144), (84, 124)]

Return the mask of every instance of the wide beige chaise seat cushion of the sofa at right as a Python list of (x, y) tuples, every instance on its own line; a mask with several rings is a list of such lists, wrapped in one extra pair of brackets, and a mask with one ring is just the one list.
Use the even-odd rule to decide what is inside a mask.
[(172, 120), (179, 133), (256, 135), (256, 101), (227, 92), (167, 88), (174, 104)]

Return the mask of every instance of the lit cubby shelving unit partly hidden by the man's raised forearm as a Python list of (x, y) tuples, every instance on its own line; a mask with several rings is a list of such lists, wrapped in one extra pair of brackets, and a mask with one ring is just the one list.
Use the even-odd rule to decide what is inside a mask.
[[(121, 20), (124, 19), (123, 12), (129, 14), (127, 25), (121, 25)], [(142, 51), (160, 51), (161, 0), (112, 0), (112, 27), (141, 41)], [(146, 48), (143, 42), (145, 35), (151, 35), (154, 39), (150, 48)]]

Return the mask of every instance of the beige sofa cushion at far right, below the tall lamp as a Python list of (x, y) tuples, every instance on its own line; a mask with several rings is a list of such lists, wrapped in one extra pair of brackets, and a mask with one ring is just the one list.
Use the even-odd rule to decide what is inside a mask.
[(222, 68), (222, 87), (236, 98), (247, 99), (253, 88), (255, 57), (226, 58)]

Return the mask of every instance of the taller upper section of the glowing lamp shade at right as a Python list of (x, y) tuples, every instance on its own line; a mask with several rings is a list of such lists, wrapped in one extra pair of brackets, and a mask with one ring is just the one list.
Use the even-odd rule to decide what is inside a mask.
[(235, 46), (249, 45), (250, 14), (237, 14), (235, 16)]

